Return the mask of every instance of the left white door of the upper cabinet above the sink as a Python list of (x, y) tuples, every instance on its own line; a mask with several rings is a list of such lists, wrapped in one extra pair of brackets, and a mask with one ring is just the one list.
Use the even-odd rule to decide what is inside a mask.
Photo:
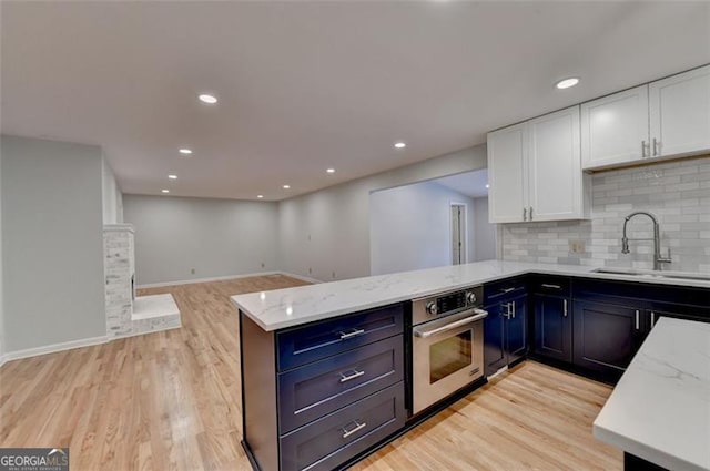
[(648, 85), (581, 104), (582, 168), (649, 156)]

